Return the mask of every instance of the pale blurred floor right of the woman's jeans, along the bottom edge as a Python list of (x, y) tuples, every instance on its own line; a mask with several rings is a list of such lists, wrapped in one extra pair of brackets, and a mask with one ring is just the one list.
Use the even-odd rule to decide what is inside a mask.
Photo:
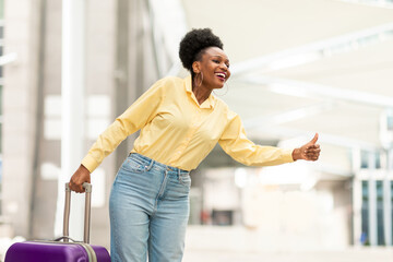
[(352, 247), (338, 238), (311, 237), (189, 226), (183, 262), (393, 262), (393, 247)]

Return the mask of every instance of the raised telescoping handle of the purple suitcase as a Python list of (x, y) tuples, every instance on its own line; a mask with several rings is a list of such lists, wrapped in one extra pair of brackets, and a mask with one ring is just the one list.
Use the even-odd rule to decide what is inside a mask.
[[(85, 215), (84, 215), (84, 234), (83, 242), (90, 242), (90, 225), (91, 225), (91, 204), (92, 204), (92, 184), (84, 182), (85, 189)], [(66, 204), (64, 204), (64, 218), (63, 218), (63, 239), (69, 241), (69, 224), (70, 224), (70, 207), (71, 207), (71, 189), (70, 184), (66, 183)]]

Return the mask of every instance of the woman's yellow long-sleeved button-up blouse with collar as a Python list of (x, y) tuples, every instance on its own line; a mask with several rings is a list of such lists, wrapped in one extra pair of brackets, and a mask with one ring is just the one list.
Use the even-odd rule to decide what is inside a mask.
[(131, 152), (184, 170), (196, 168), (217, 142), (245, 165), (293, 162), (293, 150), (255, 145), (248, 140), (239, 116), (222, 99), (211, 95), (199, 105), (191, 76), (168, 76), (157, 81), (98, 136), (82, 165), (92, 172), (140, 129)]

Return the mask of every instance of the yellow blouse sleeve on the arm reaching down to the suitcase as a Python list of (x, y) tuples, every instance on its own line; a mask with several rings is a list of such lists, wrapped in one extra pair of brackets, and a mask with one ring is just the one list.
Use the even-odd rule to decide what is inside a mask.
[(116, 118), (115, 122), (98, 136), (82, 159), (82, 165), (93, 172), (128, 135), (142, 129), (157, 115), (164, 97), (165, 83), (160, 80)]

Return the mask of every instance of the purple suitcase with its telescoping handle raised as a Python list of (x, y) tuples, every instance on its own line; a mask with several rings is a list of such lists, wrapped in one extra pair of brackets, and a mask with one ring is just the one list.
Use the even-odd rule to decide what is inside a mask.
[(104, 247), (88, 245), (92, 184), (84, 183), (83, 187), (86, 192), (83, 242), (68, 237), (71, 190), (67, 183), (63, 237), (53, 241), (16, 242), (7, 250), (4, 262), (109, 262), (109, 253)]

